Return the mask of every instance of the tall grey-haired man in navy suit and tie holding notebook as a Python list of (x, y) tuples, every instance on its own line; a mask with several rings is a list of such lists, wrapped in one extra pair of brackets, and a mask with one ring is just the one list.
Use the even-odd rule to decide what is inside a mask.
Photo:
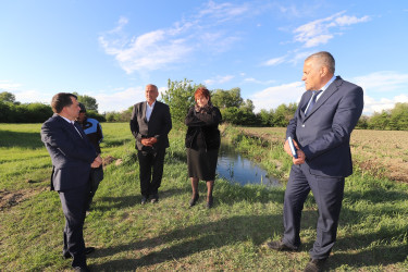
[(307, 91), (287, 126), (284, 146), (293, 157), (287, 140), (290, 136), (297, 149), (285, 191), (284, 235), (280, 242), (268, 243), (275, 250), (299, 248), (301, 210), (311, 190), (319, 219), (305, 271), (320, 271), (336, 240), (345, 177), (353, 172), (350, 134), (363, 108), (362, 89), (334, 76), (334, 58), (329, 52), (305, 60), (301, 79)]

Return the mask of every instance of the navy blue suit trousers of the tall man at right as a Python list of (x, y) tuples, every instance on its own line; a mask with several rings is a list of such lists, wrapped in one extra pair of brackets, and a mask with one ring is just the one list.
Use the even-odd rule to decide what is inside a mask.
[(336, 240), (337, 225), (344, 195), (344, 177), (316, 176), (304, 163), (292, 165), (284, 200), (283, 243), (293, 248), (300, 246), (300, 218), (310, 190), (319, 209), (317, 239), (310, 250), (313, 259), (329, 257)]

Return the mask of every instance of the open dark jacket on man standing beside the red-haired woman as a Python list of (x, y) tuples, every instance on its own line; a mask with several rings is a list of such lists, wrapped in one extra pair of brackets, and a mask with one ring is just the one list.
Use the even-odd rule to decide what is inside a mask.
[(131, 131), (136, 138), (136, 149), (149, 151), (151, 148), (141, 145), (143, 138), (156, 137), (158, 141), (153, 145), (153, 149), (169, 147), (168, 134), (172, 129), (172, 119), (170, 116), (169, 106), (156, 101), (150, 120), (146, 119), (147, 102), (140, 102), (133, 107), (131, 119)]

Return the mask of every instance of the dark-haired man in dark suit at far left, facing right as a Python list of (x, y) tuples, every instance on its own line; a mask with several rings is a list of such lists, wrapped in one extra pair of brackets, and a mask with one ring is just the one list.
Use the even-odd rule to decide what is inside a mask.
[(65, 215), (63, 257), (73, 258), (72, 267), (76, 271), (89, 271), (85, 255), (95, 248), (85, 248), (83, 228), (90, 169), (98, 168), (102, 159), (83, 128), (75, 124), (79, 114), (76, 96), (57, 94), (51, 108), (54, 114), (42, 124), (41, 140), (52, 160), (51, 190), (59, 193)]

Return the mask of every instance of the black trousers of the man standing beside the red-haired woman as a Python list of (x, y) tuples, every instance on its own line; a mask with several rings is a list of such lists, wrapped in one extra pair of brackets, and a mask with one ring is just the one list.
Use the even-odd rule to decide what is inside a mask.
[(165, 148), (138, 151), (140, 193), (145, 197), (157, 195), (163, 176)]

